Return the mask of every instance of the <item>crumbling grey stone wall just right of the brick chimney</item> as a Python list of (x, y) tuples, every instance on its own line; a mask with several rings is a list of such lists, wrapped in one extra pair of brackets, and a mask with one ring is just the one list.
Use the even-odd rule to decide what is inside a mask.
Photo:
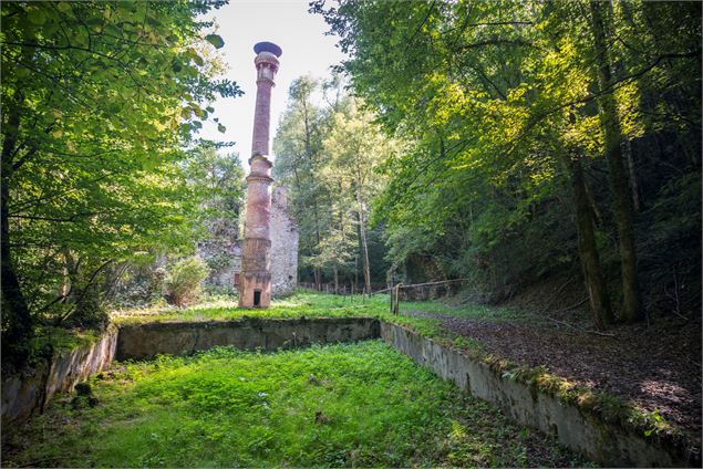
[(294, 293), (298, 285), (298, 223), (288, 211), (288, 191), (276, 187), (271, 197), (271, 292)]

